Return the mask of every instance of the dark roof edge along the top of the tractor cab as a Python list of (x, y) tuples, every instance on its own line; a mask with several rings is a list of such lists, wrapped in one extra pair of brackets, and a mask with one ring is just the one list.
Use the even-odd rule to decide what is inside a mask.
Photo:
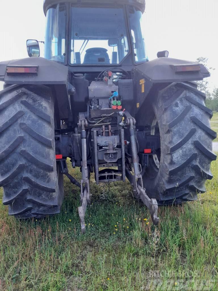
[(70, 3), (92, 3), (92, 4), (133, 4), (137, 7), (140, 8), (140, 10), (142, 11), (142, 13), (144, 13), (145, 10), (145, 0), (44, 0), (44, 4), (43, 4), (43, 9), (44, 9), (44, 14), (46, 15), (47, 10), (50, 6), (54, 5), (54, 4), (58, 4), (58, 3), (63, 3), (63, 2), (70, 2)]

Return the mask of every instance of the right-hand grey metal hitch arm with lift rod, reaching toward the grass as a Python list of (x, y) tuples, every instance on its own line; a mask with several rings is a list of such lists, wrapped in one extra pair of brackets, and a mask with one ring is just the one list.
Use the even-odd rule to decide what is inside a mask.
[(143, 187), (142, 175), (141, 175), (141, 165), (138, 162), (137, 147), (135, 140), (135, 119), (128, 113), (124, 112), (126, 117), (126, 124), (129, 127), (131, 148), (132, 148), (132, 163), (133, 163), (133, 175), (126, 166), (126, 177), (131, 182), (134, 190), (134, 196), (137, 200), (141, 199), (142, 202), (148, 207), (151, 214), (151, 219), (153, 224), (156, 225), (159, 222), (158, 215), (158, 203), (154, 198), (149, 198)]

